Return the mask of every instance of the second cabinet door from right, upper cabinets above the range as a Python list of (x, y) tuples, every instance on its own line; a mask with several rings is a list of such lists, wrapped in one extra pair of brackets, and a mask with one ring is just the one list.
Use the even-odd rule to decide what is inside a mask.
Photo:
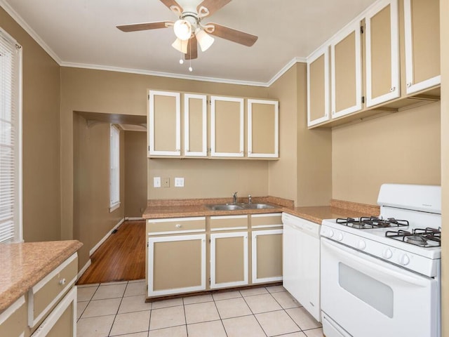
[(366, 14), (366, 106), (401, 95), (398, 0), (381, 0)]

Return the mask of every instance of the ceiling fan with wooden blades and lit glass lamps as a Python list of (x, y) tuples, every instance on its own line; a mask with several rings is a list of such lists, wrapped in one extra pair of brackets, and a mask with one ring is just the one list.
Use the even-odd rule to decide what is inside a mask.
[(178, 0), (182, 6), (175, 0), (160, 1), (170, 8), (179, 19), (175, 22), (145, 22), (116, 27), (122, 32), (173, 27), (177, 39), (172, 46), (184, 53), (186, 60), (193, 60), (198, 57), (197, 44), (200, 45), (201, 51), (206, 51), (213, 44), (214, 39), (210, 35), (221, 37), (237, 44), (243, 44), (244, 46), (253, 46), (255, 41), (257, 41), (255, 35), (213, 22), (208, 22), (206, 25), (201, 22), (203, 18), (212, 15), (231, 0), (203, 0), (200, 4), (199, 0)]

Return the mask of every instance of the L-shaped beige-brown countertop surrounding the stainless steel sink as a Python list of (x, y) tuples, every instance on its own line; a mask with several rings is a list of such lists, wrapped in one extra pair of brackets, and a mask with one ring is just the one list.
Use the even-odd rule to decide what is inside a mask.
[[(185, 218), (191, 216), (226, 216), (286, 212), (314, 223), (323, 219), (377, 216), (379, 207), (349, 201), (332, 200), (330, 206), (294, 207), (293, 201), (275, 197), (253, 198), (253, 203), (269, 203), (274, 209), (243, 209), (239, 211), (211, 211), (206, 204), (226, 204), (230, 199), (185, 199), (148, 201), (143, 213), (145, 219)], [(239, 200), (240, 201), (240, 200)], [(242, 200), (243, 201), (243, 200)]]

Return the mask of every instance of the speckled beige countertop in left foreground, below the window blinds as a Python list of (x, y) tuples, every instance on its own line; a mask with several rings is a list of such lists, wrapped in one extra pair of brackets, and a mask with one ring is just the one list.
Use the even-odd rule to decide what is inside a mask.
[(0, 244), (0, 312), (82, 245), (76, 240)]

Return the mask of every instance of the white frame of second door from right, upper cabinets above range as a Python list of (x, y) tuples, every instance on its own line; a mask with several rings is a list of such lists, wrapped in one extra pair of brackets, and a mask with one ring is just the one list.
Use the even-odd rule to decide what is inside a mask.
[[(391, 88), (389, 93), (384, 93), (376, 98), (372, 97), (371, 89), (371, 18), (382, 11), (385, 7), (390, 6), (390, 26), (391, 26)], [(401, 94), (399, 88), (399, 37), (398, 37), (398, 0), (381, 0), (376, 6), (370, 8), (366, 13), (366, 106), (372, 107), (380, 103), (387, 102), (394, 98), (398, 98)]]

